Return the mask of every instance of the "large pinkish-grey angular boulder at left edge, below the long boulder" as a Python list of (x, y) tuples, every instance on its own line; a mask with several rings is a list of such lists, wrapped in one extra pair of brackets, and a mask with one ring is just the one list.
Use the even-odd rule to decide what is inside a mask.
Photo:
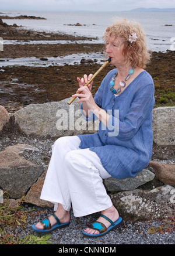
[(22, 158), (23, 151), (38, 151), (30, 145), (15, 145), (0, 152), (0, 187), (12, 199), (19, 199), (43, 173), (43, 166)]

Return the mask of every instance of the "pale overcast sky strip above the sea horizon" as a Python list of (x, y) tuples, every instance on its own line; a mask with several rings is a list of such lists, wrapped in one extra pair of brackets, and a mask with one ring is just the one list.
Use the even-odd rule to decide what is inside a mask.
[(129, 11), (135, 8), (175, 8), (175, 0), (1, 0), (2, 9), (60, 11)]

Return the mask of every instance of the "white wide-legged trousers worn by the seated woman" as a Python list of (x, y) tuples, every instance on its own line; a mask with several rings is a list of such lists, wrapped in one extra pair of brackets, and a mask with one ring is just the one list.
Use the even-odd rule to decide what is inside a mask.
[(57, 139), (48, 166), (40, 199), (58, 203), (65, 210), (74, 211), (75, 217), (86, 216), (112, 206), (103, 185), (111, 177), (101, 165), (95, 152), (79, 149), (78, 136)]

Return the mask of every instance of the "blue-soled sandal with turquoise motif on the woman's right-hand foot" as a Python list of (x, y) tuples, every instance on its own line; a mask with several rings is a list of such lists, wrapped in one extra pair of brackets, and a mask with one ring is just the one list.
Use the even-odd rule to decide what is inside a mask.
[(111, 226), (107, 228), (103, 223), (95, 221), (89, 226), (89, 228), (99, 231), (100, 234), (89, 234), (83, 230), (83, 235), (86, 235), (86, 237), (100, 237), (102, 235), (106, 235), (108, 231), (117, 228), (122, 224), (121, 217), (119, 217), (118, 220), (116, 220), (115, 222), (111, 221), (108, 217), (104, 216), (103, 214), (100, 214), (100, 217), (103, 217), (104, 219), (108, 220), (111, 223)]

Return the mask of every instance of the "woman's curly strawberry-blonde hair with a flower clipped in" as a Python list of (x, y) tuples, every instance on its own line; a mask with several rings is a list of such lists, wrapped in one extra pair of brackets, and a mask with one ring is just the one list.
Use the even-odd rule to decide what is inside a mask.
[[(138, 37), (135, 42), (129, 41), (129, 35), (136, 33)], [(145, 69), (149, 63), (151, 51), (146, 43), (146, 36), (143, 33), (141, 25), (138, 22), (122, 19), (115, 22), (106, 29), (104, 33), (104, 42), (107, 44), (108, 37), (113, 36), (115, 39), (120, 37), (124, 43), (122, 54), (125, 57), (126, 63)]]

